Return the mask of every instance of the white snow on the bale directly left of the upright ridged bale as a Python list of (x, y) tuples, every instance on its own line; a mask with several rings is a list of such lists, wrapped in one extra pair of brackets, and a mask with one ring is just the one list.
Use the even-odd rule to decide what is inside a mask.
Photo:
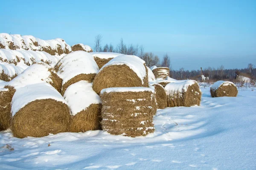
[(93, 91), (92, 83), (84, 80), (70, 85), (63, 97), (70, 107), (72, 116), (88, 108), (91, 104), (101, 103), (99, 95)]

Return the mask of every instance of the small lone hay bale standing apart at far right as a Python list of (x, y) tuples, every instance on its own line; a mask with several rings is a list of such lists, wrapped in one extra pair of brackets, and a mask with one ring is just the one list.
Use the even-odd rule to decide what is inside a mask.
[(217, 81), (210, 89), (212, 97), (236, 97), (238, 94), (236, 85), (233, 82)]

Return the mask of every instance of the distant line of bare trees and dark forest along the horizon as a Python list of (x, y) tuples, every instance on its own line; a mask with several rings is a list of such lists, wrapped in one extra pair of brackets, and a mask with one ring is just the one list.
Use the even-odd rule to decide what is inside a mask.
[[(145, 61), (145, 64), (148, 67), (156, 65), (157, 67), (168, 67), (170, 68), (170, 77), (174, 79), (195, 79), (198, 80), (198, 77), (201, 76), (201, 70), (186, 70), (186, 68), (180, 68), (179, 70), (172, 70), (171, 58), (168, 54), (163, 56), (163, 59), (151, 53), (151, 52), (144, 52), (143, 45), (126, 45), (121, 38), (119, 43), (116, 47), (113, 45), (106, 44), (102, 47), (102, 35), (97, 35), (95, 37), (95, 45), (94, 51), (96, 52), (116, 52), (121, 54), (128, 54), (128, 55), (136, 55)], [(200, 67), (200, 65), (198, 65)], [(209, 80), (230, 80), (234, 81), (237, 75), (242, 75), (245, 77), (249, 77), (252, 79), (256, 79), (256, 68), (255, 65), (249, 63), (247, 68), (242, 69), (225, 69), (224, 65), (220, 65), (218, 68), (203, 68), (203, 75), (205, 77), (209, 77)]]

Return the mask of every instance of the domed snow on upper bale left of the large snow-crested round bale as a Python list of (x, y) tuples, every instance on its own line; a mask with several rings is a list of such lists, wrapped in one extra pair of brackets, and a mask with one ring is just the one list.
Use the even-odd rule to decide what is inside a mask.
[(98, 73), (99, 67), (93, 56), (85, 51), (74, 51), (60, 60), (59, 77), (63, 79), (62, 85), (79, 74)]

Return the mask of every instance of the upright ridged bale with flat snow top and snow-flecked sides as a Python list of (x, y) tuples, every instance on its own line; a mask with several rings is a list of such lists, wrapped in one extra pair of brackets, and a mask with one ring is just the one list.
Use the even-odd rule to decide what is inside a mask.
[(106, 88), (100, 96), (103, 130), (113, 135), (131, 137), (154, 132), (154, 88)]

